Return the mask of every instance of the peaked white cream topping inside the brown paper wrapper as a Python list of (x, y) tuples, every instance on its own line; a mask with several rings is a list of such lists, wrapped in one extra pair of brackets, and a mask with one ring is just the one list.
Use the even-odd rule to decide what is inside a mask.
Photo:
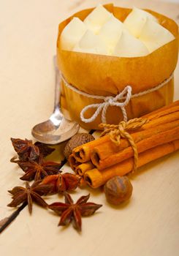
[(102, 5), (84, 20), (73, 18), (61, 33), (61, 48), (120, 57), (146, 56), (175, 37), (149, 12), (136, 7), (122, 23)]

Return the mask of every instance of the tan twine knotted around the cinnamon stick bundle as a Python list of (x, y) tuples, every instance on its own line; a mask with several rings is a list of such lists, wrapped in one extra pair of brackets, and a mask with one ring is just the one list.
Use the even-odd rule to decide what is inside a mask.
[(129, 144), (134, 151), (134, 165), (132, 172), (137, 170), (138, 151), (129, 132), (140, 129), (144, 124), (148, 123), (148, 121), (148, 118), (134, 118), (129, 121), (121, 121), (119, 124), (99, 124), (99, 127), (104, 129), (101, 137), (104, 135), (110, 135), (110, 140), (112, 140), (116, 146), (120, 145), (121, 138), (125, 138), (129, 141)]

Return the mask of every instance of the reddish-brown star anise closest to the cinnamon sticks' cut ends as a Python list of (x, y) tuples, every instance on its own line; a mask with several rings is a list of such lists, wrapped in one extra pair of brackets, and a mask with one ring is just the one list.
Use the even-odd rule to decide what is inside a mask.
[(80, 178), (72, 173), (58, 173), (42, 180), (41, 184), (53, 184), (53, 193), (62, 193), (75, 190), (80, 183)]

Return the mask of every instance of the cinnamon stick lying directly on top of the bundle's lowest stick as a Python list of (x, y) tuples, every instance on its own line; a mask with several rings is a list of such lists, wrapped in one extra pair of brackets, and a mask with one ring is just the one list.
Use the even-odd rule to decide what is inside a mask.
[[(178, 126), (174, 129), (167, 129), (167, 131), (159, 132), (158, 134), (151, 135), (151, 137), (149, 138), (140, 140), (140, 142), (136, 143), (137, 152), (138, 154), (140, 154), (143, 151), (162, 145), (164, 143), (169, 143), (172, 140), (179, 140), (179, 121)], [(125, 148), (123, 151), (111, 154), (110, 157), (100, 159), (98, 151), (96, 151), (94, 148), (94, 151), (91, 154), (91, 161), (99, 170), (103, 170), (107, 167), (115, 165), (133, 156), (134, 151), (132, 150), (132, 147), (129, 146), (128, 148)]]

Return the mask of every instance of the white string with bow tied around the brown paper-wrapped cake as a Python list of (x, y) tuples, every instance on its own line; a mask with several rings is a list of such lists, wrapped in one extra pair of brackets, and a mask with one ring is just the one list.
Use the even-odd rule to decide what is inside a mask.
[[(115, 97), (113, 97), (113, 96), (106, 96), (105, 97), (105, 96), (87, 94), (84, 91), (80, 91), (80, 90), (76, 89), (74, 86), (70, 85), (66, 81), (64, 76), (61, 74), (61, 80), (63, 80), (65, 86), (68, 87), (69, 89), (71, 89), (72, 91), (75, 91), (75, 92), (77, 92), (77, 94), (83, 95), (83, 96), (88, 97), (88, 98), (102, 99), (104, 101), (102, 103), (95, 103), (95, 104), (87, 105), (87, 106), (85, 106), (85, 108), (83, 108), (83, 110), (81, 110), (80, 118), (85, 123), (91, 123), (91, 121), (94, 121), (96, 119), (96, 117), (99, 115), (100, 112), (102, 112), (102, 123), (107, 123), (106, 113), (107, 113), (107, 108), (109, 106), (116, 106), (116, 107), (121, 108), (122, 113), (123, 113), (123, 121), (127, 121), (127, 114), (126, 114), (125, 107), (126, 107), (126, 105), (128, 105), (130, 99), (132, 99), (134, 97), (140, 97), (142, 95), (145, 95), (145, 94), (151, 93), (153, 91), (159, 90), (162, 86), (169, 83), (170, 80), (172, 80), (172, 78), (173, 78), (173, 73), (170, 75), (169, 78), (165, 79), (162, 83), (159, 83), (159, 85), (157, 85), (157, 86), (155, 86), (151, 89), (145, 90), (145, 91), (140, 91), (137, 94), (132, 94), (132, 86), (126, 86), (123, 89), (123, 91), (121, 91)], [(91, 109), (91, 108), (96, 108), (96, 111), (94, 112), (94, 114), (90, 118), (85, 118), (84, 117), (85, 112), (88, 109)]]

